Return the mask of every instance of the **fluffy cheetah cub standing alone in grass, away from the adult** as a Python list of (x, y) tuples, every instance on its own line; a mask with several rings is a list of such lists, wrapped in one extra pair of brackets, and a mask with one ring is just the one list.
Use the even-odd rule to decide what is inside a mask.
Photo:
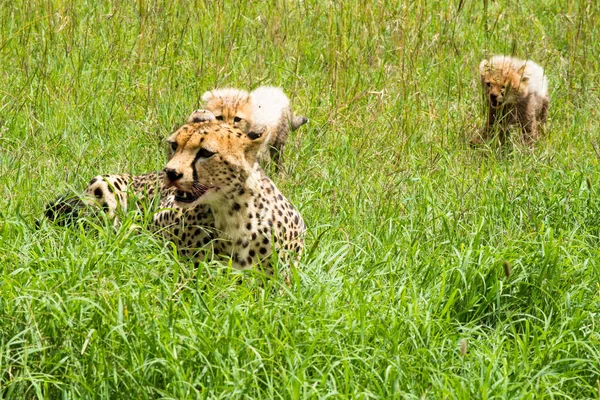
[(548, 79), (544, 69), (531, 60), (499, 55), (481, 61), (479, 74), (488, 117), (482, 132), (471, 143), (489, 139), (494, 126), (500, 128), (499, 140), (503, 143), (512, 125), (520, 126), (526, 144), (537, 141), (548, 118)]

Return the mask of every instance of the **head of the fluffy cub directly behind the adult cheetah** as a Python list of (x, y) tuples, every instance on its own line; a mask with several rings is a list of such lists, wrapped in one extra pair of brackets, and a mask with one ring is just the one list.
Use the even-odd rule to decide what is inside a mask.
[(252, 106), (248, 92), (233, 88), (214, 89), (205, 92), (202, 101), (218, 121), (226, 122), (246, 133), (250, 131)]

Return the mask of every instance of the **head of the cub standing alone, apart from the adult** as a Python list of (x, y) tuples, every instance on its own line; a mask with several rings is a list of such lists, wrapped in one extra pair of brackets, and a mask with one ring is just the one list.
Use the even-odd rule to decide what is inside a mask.
[(491, 107), (514, 104), (519, 97), (527, 96), (529, 75), (526, 65), (515, 68), (510, 59), (492, 58), (479, 64), (481, 85)]

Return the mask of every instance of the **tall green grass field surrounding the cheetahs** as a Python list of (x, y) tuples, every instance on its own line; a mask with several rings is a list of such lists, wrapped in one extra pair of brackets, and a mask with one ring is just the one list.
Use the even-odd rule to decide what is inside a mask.
[[(467, 144), (497, 53), (547, 71), (534, 151)], [(599, 54), (591, 0), (0, 2), (0, 398), (599, 398)], [(311, 119), (284, 294), (41, 219), (263, 84)]]

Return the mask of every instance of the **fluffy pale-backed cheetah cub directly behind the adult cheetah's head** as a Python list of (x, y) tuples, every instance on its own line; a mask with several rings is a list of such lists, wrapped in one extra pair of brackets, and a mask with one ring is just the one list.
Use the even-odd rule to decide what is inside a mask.
[[(308, 118), (292, 112), (290, 100), (280, 88), (261, 86), (251, 93), (244, 90), (223, 88), (202, 95), (204, 108), (212, 112), (217, 120), (227, 122), (248, 133), (250, 129), (265, 129), (265, 124), (276, 126), (269, 130), (259, 159), (272, 160), (281, 168), (283, 149), (290, 130), (295, 131), (308, 122)], [(258, 120), (257, 117), (260, 117)]]

